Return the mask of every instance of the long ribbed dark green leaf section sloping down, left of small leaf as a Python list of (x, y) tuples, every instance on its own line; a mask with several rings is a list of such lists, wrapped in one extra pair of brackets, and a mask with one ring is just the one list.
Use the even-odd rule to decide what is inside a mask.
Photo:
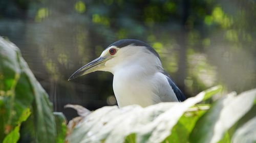
[(23, 67), (24, 73), (28, 76), (31, 86), (30, 92), (34, 95), (34, 100), (32, 102), (32, 117), (35, 139), (37, 142), (55, 142), (57, 132), (52, 112), (52, 103), (50, 103), (47, 93), (35, 79), (24, 59), (20, 57), (19, 61), (20, 66)]

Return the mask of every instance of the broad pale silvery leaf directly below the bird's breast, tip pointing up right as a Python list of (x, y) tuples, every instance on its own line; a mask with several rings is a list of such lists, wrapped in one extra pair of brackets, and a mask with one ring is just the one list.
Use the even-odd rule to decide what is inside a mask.
[[(184, 102), (102, 107), (84, 117), (67, 137), (69, 142), (161, 142), (189, 107), (201, 102), (212, 88)], [(209, 95), (209, 94), (208, 94)]]

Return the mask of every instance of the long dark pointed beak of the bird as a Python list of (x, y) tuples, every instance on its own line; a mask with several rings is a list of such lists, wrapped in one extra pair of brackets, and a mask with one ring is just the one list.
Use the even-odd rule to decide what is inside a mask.
[(87, 65), (78, 69), (75, 73), (73, 73), (70, 76), (70, 78), (68, 80), (74, 79), (74, 78), (82, 76), (84, 74), (88, 74), (88, 73), (97, 71), (104, 66), (103, 63), (105, 63), (106, 61), (107, 61), (106, 58), (99, 57), (99, 58), (93, 60), (92, 62), (88, 63)]

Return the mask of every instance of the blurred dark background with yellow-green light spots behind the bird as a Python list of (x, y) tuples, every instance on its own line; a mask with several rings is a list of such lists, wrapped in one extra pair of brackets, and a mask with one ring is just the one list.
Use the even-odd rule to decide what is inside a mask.
[(119, 39), (152, 45), (186, 97), (222, 84), (256, 86), (256, 1), (0, 0), (0, 36), (15, 43), (37, 80), (68, 119), (116, 104), (111, 73), (67, 81)]

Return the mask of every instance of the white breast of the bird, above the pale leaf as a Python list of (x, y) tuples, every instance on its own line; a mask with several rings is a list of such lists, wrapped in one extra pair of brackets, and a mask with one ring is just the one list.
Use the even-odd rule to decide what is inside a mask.
[(154, 104), (151, 75), (144, 74), (140, 66), (119, 69), (114, 74), (113, 90), (118, 106)]

